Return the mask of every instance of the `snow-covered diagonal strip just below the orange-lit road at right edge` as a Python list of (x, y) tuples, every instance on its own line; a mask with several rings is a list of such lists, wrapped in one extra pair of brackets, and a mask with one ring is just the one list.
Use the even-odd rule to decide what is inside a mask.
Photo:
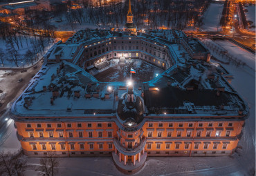
[(255, 70), (255, 55), (252, 52), (249, 52), (235, 43), (230, 41), (215, 41), (217, 44), (228, 50), (228, 54), (236, 57), (237, 59), (244, 61), (248, 66), (254, 68)]

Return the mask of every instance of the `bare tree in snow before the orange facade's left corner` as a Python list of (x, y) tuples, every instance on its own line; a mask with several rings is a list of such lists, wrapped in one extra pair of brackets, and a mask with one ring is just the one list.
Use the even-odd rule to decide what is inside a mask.
[(42, 175), (53, 176), (58, 173), (59, 161), (53, 153), (50, 152), (47, 157), (40, 159), (40, 164), (41, 166), (37, 170), (41, 171)]

